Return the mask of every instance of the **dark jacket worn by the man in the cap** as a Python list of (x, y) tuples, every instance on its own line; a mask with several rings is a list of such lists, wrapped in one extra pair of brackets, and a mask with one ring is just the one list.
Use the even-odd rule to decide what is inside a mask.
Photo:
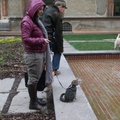
[(56, 5), (46, 8), (42, 16), (53, 52), (63, 52), (62, 19), (63, 17)]

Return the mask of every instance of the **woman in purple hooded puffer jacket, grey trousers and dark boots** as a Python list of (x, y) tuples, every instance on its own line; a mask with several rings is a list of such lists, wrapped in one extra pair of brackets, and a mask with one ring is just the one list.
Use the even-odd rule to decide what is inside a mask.
[(37, 19), (43, 13), (45, 3), (42, 0), (30, 0), (26, 16), (21, 22), (24, 60), (28, 72), (28, 93), (30, 96), (29, 109), (41, 110), (42, 104), (37, 98), (37, 83), (41, 77), (46, 57), (47, 44)]

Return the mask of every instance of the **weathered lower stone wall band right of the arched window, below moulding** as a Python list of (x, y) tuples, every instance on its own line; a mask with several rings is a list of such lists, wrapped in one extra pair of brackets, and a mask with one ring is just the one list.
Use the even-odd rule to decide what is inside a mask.
[(120, 18), (78, 18), (64, 19), (72, 26), (73, 33), (80, 32), (117, 32), (120, 31)]

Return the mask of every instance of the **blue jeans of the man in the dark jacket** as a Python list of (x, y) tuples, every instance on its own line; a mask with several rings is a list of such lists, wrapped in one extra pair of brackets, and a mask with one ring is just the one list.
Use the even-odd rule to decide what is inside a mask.
[(54, 52), (53, 59), (52, 59), (52, 68), (53, 68), (53, 71), (57, 71), (59, 69), (60, 58), (61, 58), (61, 53)]

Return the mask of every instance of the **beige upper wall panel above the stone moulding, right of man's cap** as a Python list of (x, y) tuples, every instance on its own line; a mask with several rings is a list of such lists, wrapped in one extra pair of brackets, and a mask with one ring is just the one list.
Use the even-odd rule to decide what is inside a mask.
[(68, 9), (65, 17), (106, 16), (107, 0), (65, 0)]

